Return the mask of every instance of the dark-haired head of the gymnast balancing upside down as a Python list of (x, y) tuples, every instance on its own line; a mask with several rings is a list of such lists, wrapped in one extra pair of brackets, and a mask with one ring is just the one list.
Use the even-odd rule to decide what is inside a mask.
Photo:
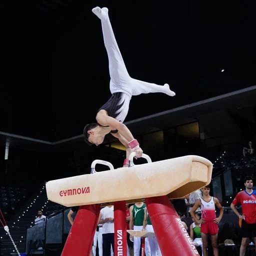
[(105, 135), (100, 132), (97, 123), (88, 123), (83, 128), (83, 138), (88, 145), (99, 145), (104, 141)]

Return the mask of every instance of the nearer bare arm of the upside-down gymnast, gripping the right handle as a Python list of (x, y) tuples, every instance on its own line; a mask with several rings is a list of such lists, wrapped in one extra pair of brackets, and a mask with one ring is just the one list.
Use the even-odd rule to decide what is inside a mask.
[[(99, 122), (100, 121), (100, 122)], [(116, 119), (114, 119), (111, 116), (108, 115), (100, 115), (100, 120), (97, 120), (98, 123), (101, 125), (109, 125), (111, 129), (117, 129), (119, 133), (117, 136), (119, 141), (127, 148), (130, 147), (129, 143), (134, 140), (134, 137), (132, 136), (130, 130), (127, 128), (127, 126)], [(116, 134), (117, 134), (116, 133)], [(113, 133), (112, 133), (113, 134)], [(133, 149), (136, 152), (136, 157), (141, 157), (143, 151), (142, 149), (138, 146), (136, 146)]]

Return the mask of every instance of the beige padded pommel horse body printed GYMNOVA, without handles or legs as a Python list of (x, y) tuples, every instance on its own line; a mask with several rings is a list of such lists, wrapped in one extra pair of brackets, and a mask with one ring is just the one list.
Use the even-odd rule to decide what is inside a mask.
[(46, 192), (49, 200), (67, 207), (119, 200), (135, 202), (159, 195), (180, 198), (208, 184), (211, 172), (209, 160), (186, 155), (51, 180), (46, 183)]

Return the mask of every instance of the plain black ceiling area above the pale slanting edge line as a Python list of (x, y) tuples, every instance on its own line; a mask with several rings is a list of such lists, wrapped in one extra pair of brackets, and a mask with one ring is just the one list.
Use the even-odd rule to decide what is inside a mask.
[(176, 92), (134, 96), (126, 121), (256, 84), (246, 4), (2, 0), (0, 131), (56, 141), (95, 120), (110, 97), (95, 6), (108, 7), (129, 74)]

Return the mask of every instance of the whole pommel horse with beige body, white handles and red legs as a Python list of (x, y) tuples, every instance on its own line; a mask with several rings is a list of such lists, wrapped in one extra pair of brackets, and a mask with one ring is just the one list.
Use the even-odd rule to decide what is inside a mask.
[[(100, 205), (114, 205), (114, 255), (126, 256), (125, 203), (144, 201), (163, 256), (199, 255), (169, 199), (182, 198), (210, 183), (212, 163), (186, 155), (114, 169), (110, 162), (94, 160), (91, 174), (46, 183), (49, 200), (64, 206), (80, 206), (61, 256), (89, 256)], [(109, 170), (96, 172), (95, 165)]]

